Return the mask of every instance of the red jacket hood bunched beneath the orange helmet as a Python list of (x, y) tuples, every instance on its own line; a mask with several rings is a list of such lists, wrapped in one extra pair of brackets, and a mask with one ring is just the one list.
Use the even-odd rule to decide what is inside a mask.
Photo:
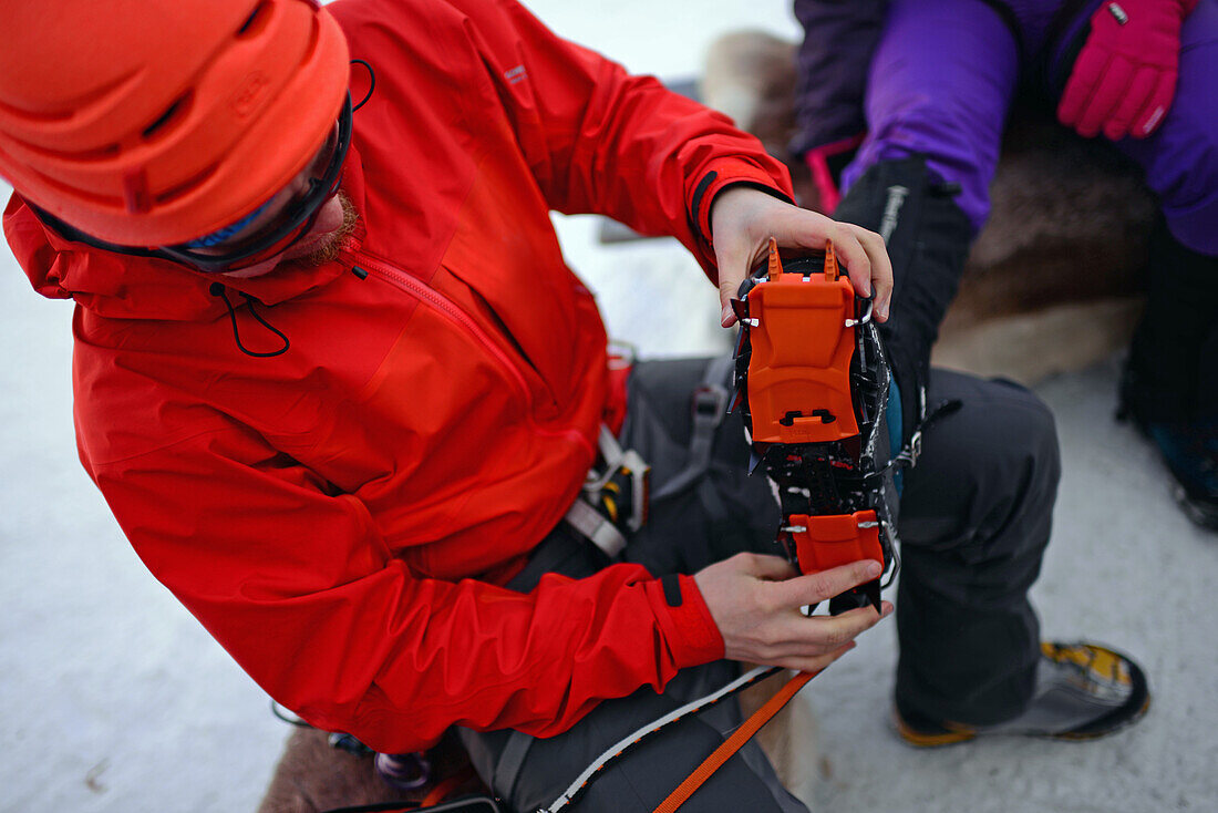
[[(363, 178), (352, 145), (343, 168), (343, 190), (361, 212), (363, 234)], [(250, 279), (208, 274), (181, 263), (135, 257), (65, 239), (45, 225), (17, 193), (4, 212), (4, 232), (17, 262), (34, 290), (49, 299), (71, 299), (94, 313), (114, 319), (214, 319), (227, 312), (212, 295), (213, 283), (248, 294), (264, 305), (320, 288), (343, 272), (339, 262), (308, 266), (285, 262), (270, 273)]]

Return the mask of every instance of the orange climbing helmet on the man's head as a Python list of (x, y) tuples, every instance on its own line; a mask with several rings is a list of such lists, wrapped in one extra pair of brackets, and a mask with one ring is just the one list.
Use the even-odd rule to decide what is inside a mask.
[(90, 236), (185, 243), (314, 158), (347, 59), (315, 0), (0, 0), (0, 176)]

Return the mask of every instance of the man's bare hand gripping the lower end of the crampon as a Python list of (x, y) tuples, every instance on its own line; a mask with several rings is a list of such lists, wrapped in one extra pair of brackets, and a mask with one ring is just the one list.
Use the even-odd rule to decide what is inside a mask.
[(738, 553), (693, 578), (723, 636), (726, 657), (816, 672), (853, 650), (854, 637), (889, 616), (893, 606), (885, 601), (883, 616), (862, 607), (812, 618), (799, 608), (828, 601), (878, 575), (879, 563), (872, 561), (799, 575), (778, 556)]

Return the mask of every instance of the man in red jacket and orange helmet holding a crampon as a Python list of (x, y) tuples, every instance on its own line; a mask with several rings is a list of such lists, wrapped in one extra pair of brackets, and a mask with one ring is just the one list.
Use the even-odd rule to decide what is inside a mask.
[[(551, 225), (598, 212), (676, 236), (725, 325), (770, 235), (831, 239), (887, 318), (882, 240), (792, 206), (726, 118), (514, 0), (57, 0), (5, 5), (0, 32), (5, 233), (37, 290), (76, 301), (82, 462), (278, 701), (386, 753), (459, 726), (505, 803), (535, 809), (722, 681), (723, 658), (816, 669), (879, 619), (800, 614), (875, 573), (766, 555), (776, 506), (738, 417), (708, 436), (688, 411), (706, 362), (613, 374)], [(1027, 589), (1056, 439), (1018, 388), (931, 392), (965, 406), (906, 473), (903, 533), (927, 552), (903, 602), (926, 645), (898, 684), (967, 739), (1040, 708)], [(660, 491), (697, 477), (610, 555), (564, 518), (614, 433)], [(1136, 668), (1108, 666), (1057, 731), (1145, 707)], [(582, 809), (649, 809), (737, 715), (644, 744)], [(755, 746), (699, 796), (803, 809)]]

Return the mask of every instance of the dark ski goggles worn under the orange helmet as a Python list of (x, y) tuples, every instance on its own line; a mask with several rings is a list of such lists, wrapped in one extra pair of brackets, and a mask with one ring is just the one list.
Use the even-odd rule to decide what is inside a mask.
[[(278, 199), (281, 190), (244, 218), (190, 243), (153, 249), (155, 255), (194, 266), (208, 273), (238, 271), (286, 251), (309, 233), (322, 206), (339, 191), (342, 165), (351, 146), (351, 98), (342, 106), (330, 137), (304, 168), (300, 189)], [(275, 216), (266, 212), (276, 207)], [(258, 221), (263, 221), (258, 224)], [(256, 225), (257, 224), (257, 225)], [(256, 228), (255, 228), (256, 225)]]

